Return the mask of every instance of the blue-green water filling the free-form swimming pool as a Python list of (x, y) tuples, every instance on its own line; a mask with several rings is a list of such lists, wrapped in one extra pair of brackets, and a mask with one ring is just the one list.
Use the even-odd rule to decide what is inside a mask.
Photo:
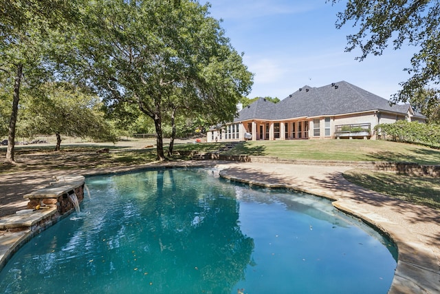
[(79, 214), (6, 264), (1, 293), (386, 293), (393, 280), (393, 244), (321, 198), (214, 169), (87, 186)]

